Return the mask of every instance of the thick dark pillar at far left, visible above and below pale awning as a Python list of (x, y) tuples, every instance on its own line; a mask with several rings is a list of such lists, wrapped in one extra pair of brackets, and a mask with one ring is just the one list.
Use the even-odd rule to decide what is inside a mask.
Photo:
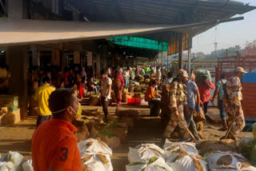
[[(9, 0), (7, 12), (9, 19), (23, 19), (23, 0)], [(28, 103), (28, 56), (27, 46), (9, 46), (6, 50), (6, 62), (11, 74), (9, 91), (18, 96), (20, 115), (25, 119)]]

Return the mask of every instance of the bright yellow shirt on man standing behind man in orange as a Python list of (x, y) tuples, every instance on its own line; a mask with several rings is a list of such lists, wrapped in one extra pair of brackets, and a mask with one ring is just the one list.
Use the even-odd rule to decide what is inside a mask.
[(38, 113), (41, 116), (51, 115), (50, 109), (48, 107), (48, 99), (50, 93), (52, 93), (55, 88), (49, 84), (42, 85), (37, 89), (34, 94), (34, 100), (38, 101)]

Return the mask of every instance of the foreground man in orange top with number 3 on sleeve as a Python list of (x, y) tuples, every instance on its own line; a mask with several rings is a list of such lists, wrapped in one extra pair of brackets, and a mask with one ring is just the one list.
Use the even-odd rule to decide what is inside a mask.
[(71, 124), (79, 109), (72, 89), (57, 89), (50, 94), (53, 115), (40, 125), (32, 137), (32, 165), (36, 171), (82, 171), (81, 156)]

